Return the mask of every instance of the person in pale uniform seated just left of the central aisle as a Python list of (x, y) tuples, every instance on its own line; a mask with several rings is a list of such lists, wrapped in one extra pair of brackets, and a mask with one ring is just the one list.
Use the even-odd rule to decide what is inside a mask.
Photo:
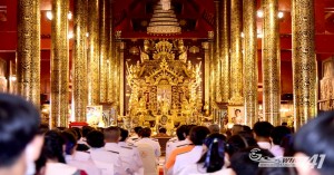
[(143, 128), (140, 132), (141, 138), (135, 143), (136, 146), (139, 144), (148, 144), (154, 147), (155, 155), (157, 158), (161, 155), (161, 147), (157, 139), (150, 138), (151, 130), (149, 127)]

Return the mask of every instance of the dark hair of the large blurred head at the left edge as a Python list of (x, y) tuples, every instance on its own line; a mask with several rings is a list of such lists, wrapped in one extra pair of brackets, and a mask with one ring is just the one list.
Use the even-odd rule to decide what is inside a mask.
[(13, 165), (38, 134), (37, 108), (21, 97), (0, 94), (0, 168)]

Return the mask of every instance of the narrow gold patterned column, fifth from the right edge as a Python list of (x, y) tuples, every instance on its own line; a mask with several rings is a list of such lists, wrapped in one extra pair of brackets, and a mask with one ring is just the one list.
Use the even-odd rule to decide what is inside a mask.
[(219, 48), (220, 48), (220, 93), (222, 103), (228, 103), (229, 99), (229, 0), (220, 2), (220, 28), (219, 28)]

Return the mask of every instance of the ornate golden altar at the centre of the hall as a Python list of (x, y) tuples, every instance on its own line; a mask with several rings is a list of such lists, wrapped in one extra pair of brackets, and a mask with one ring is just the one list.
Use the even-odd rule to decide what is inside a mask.
[[(175, 45), (177, 43), (177, 46)], [(198, 124), (202, 114), (202, 62), (187, 60), (183, 40), (144, 41), (140, 61), (127, 65), (131, 89), (126, 120), (130, 127), (166, 127)]]

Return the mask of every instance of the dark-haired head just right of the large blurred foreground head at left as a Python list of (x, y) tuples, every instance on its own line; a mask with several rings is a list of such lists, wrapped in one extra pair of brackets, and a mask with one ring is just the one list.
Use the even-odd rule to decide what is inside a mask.
[(47, 159), (65, 163), (63, 145), (65, 139), (61, 137), (60, 132), (49, 130), (45, 135), (45, 144), (41, 155)]

